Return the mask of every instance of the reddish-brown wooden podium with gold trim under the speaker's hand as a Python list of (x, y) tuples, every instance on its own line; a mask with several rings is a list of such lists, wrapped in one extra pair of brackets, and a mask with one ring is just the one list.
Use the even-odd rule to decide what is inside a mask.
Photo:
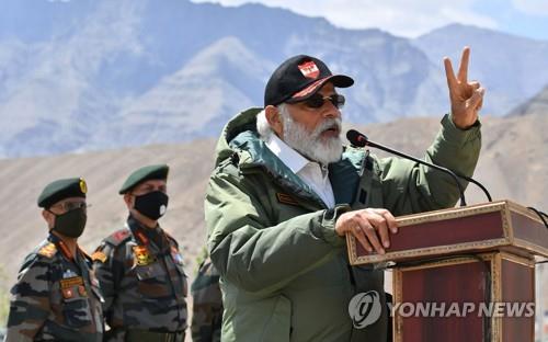
[(385, 255), (347, 236), (351, 264), (395, 263), (393, 341), (535, 340), (535, 260), (548, 258), (535, 213), (501, 201), (397, 220)]

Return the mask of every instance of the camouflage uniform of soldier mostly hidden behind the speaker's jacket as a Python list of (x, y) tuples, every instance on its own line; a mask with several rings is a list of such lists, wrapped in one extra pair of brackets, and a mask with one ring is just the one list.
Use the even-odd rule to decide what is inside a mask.
[(209, 256), (199, 265), (191, 292), (193, 298), (192, 340), (194, 342), (220, 341), (222, 295), (219, 287), (219, 272)]

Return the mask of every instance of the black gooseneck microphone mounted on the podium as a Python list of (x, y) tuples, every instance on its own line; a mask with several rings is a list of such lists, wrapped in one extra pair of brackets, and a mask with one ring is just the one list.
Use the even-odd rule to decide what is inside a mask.
[(492, 202), (491, 194), (489, 194), (489, 191), (487, 191), (487, 189), (483, 185), (481, 185), (479, 182), (477, 182), (476, 180), (473, 180), (473, 179), (471, 179), (469, 176), (457, 174), (457, 173), (455, 173), (454, 171), (452, 171), (452, 170), (449, 170), (447, 168), (439, 167), (439, 166), (436, 166), (434, 163), (426, 162), (426, 161), (424, 161), (422, 159), (414, 158), (412, 156), (402, 153), (400, 151), (393, 150), (393, 149), (391, 149), (389, 147), (386, 147), (386, 146), (383, 146), (380, 144), (373, 142), (373, 141), (370, 141), (367, 138), (366, 135), (364, 135), (364, 134), (362, 134), (362, 133), (359, 133), (359, 132), (357, 132), (355, 129), (350, 129), (346, 133), (346, 139), (349, 139), (349, 141), (352, 145), (354, 145), (354, 146), (357, 146), (357, 147), (370, 146), (370, 147), (374, 147), (374, 148), (378, 148), (378, 149), (381, 149), (381, 150), (387, 151), (389, 153), (399, 156), (401, 158), (410, 159), (410, 160), (412, 160), (414, 162), (421, 163), (423, 166), (427, 166), (429, 168), (436, 169), (438, 171), (442, 171), (442, 172), (445, 172), (445, 173), (449, 174), (455, 180), (455, 183), (457, 184), (458, 192), (460, 194), (460, 206), (466, 206), (466, 200), (465, 200), (465, 192), (463, 190), (463, 185), (460, 184), (460, 182), (458, 181), (457, 178), (464, 179), (464, 180), (466, 180), (466, 181), (468, 181), (470, 183), (476, 184), (478, 187), (480, 187), (483, 191), (483, 193), (486, 194), (486, 196), (489, 200), (489, 202)]

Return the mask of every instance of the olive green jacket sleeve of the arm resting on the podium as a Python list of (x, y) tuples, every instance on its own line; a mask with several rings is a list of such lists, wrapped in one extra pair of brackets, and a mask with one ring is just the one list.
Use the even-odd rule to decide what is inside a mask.
[(248, 292), (272, 293), (341, 252), (334, 231), (346, 206), (270, 225), (254, 186), (236, 172), (209, 180), (205, 220), (212, 261), (222, 277)]

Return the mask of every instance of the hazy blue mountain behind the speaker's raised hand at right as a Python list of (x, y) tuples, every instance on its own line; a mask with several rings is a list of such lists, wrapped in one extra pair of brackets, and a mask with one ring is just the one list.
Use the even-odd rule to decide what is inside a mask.
[[(457, 59), (464, 45), (472, 49), (469, 76), (477, 79), (489, 93), (488, 114), (506, 114), (518, 103), (536, 94), (547, 83), (548, 43), (452, 24), (413, 41), (413, 44), (434, 64), (443, 56)], [(512, 46), (512, 48), (506, 49)], [(504, 49), (502, 52), (501, 49)], [(537, 65), (544, 66), (541, 68)], [(528, 75), (535, 73), (535, 78)], [(509, 79), (512, 78), (512, 82)], [(501, 84), (505, 84), (501, 87)]]

